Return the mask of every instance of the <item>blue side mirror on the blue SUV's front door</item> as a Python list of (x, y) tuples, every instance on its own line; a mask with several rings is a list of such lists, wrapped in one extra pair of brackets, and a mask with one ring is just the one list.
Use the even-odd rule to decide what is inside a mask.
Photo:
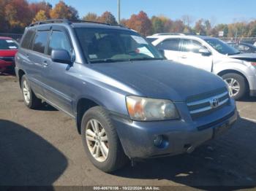
[(53, 62), (56, 63), (67, 63), (70, 64), (71, 62), (71, 56), (69, 55), (69, 52), (67, 50), (52, 50), (50, 58)]

